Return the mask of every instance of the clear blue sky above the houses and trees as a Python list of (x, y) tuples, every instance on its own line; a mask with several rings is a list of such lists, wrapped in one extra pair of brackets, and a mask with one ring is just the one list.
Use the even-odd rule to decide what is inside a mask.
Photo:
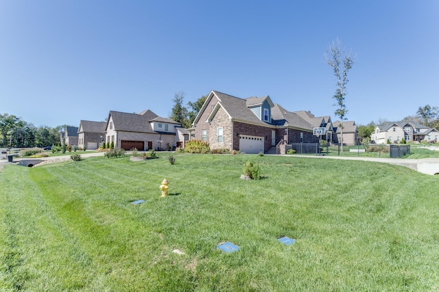
[(437, 0), (0, 0), (0, 114), (168, 117), (176, 92), (217, 90), (336, 120), (324, 52), (338, 38), (357, 55), (346, 118), (400, 120), (439, 106), (438, 29)]

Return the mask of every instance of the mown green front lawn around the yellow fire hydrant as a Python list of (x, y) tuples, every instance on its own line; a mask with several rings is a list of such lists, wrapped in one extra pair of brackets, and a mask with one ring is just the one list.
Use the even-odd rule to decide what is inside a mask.
[[(365, 161), (167, 156), (6, 166), (1, 289), (439, 289), (439, 176)], [(263, 179), (239, 179), (249, 158)], [(224, 241), (239, 251), (217, 250)]]

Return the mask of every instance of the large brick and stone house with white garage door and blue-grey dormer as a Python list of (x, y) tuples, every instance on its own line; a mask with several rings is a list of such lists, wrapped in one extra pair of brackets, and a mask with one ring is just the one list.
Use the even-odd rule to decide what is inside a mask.
[(274, 104), (270, 96), (238, 98), (212, 90), (189, 129), (191, 139), (210, 147), (268, 152), (281, 140), (318, 142), (303, 118)]

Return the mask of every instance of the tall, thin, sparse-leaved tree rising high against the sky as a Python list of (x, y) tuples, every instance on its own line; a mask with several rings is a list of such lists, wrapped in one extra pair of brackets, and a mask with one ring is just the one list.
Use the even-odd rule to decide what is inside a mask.
[(347, 94), (346, 84), (349, 81), (348, 71), (351, 70), (354, 64), (354, 58), (351, 56), (351, 52), (347, 53), (342, 49), (342, 44), (338, 39), (336, 42), (329, 44), (329, 53), (325, 53), (325, 57), (327, 64), (333, 68), (335, 78), (337, 79), (337, 90), (335, 90), (333, 96), (336, 101), (334, 106), (337, 106), (337, 109), (335, 109), (334, 114), (340, 118), (340, 137), (343, 151), (343, 120), (346, 120), (346, 114), (348, 114), (344, 98)]

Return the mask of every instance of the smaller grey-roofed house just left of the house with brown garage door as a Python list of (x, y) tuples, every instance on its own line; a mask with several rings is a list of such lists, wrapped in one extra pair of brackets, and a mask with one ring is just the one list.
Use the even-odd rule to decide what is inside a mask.
[(78, 127), (78, 147), (95, 150), (105, 139), (106, 122), (81, 120)]

